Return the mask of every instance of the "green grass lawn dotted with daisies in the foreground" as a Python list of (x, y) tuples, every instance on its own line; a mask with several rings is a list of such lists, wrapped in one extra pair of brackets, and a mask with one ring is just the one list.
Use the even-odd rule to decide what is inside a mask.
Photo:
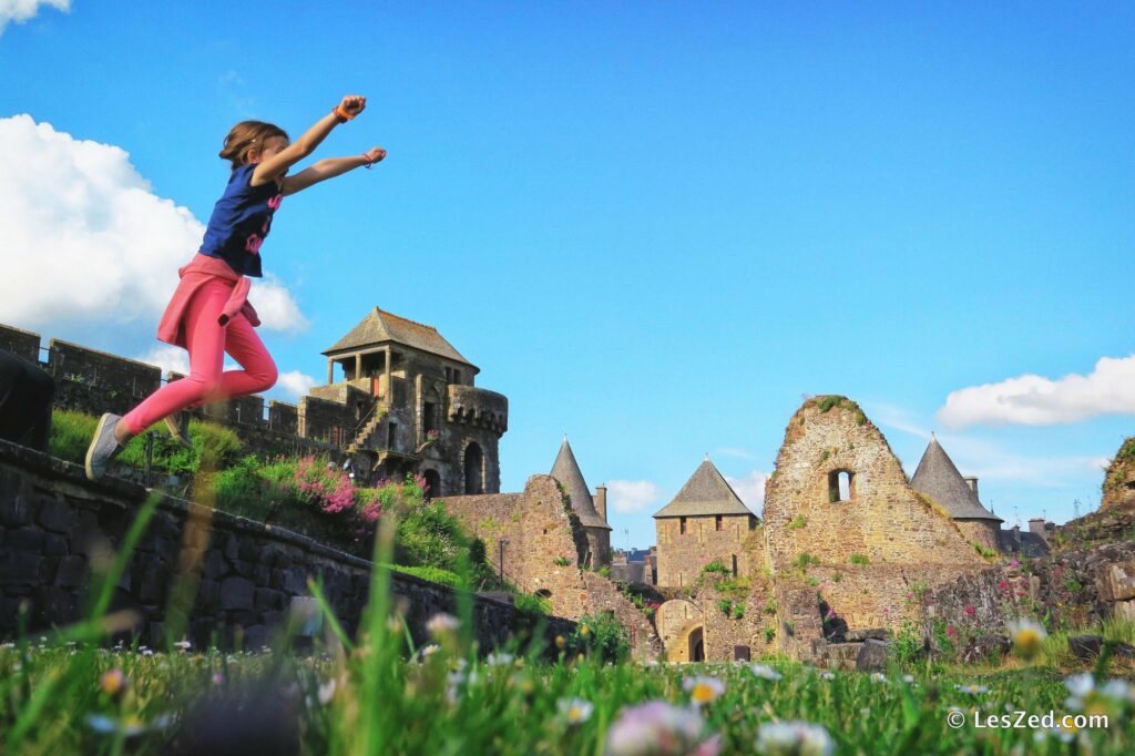
[[(305, 658), (8, 647), (0, 742), (12, 754), (178, 753), (209, 747), (203, 733), (302, 744), (311, 754), (1135, 751), (1129, 689), (1102, 695), (1096, 682), (1068, 702), (1065, 677), (1044, 669), (872, 677), (790, 663), (603, 664), (574, 654), (476, 661), (455, 636), (439, 640), (418, 661), (397, 654), (390, 637), (381, 652)], [(1074, 679), (1073, 688), (1084, 683)], [(27, 719), (37, 703), (43, 708)], [(1109, 724), (1058, 732), (978, 729), (973, 720), (1050, 711), (1104, 714)], [(962, 726), (948, 724), (951, 714)]]

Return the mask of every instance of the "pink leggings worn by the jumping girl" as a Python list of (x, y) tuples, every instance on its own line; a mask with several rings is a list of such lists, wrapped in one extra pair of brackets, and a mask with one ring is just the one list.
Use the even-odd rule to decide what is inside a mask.
[[(126, 413), (123, 422), (140, 434), (162, 418), (191, 406), (268, 390), (276, 385), (276, 363), (247, 318), (237, 313), (221, 326), (217, 320), (233, 287), (224, 280), (203, 284), (185, 311), (190, 375), (166, 384)], [(244, 370), (222, 372), (225, 352)]]

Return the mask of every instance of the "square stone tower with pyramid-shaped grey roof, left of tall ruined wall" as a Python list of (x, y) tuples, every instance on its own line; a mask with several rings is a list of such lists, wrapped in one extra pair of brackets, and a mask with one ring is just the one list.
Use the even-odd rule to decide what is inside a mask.
[(757, 516), (706, 456), (670, 504), (655, 515), (658, 536), (658, 585), (692, 586), (706, 564), (721, 562), (734, 576), (749, 574), (742, 548)]

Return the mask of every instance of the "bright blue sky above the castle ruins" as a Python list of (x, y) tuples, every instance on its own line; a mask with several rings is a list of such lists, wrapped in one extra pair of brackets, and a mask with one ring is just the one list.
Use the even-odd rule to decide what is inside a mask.
[[(263, 249), (301, 313), (266, 334), (280, 369), (322, 378), (375, 304), (437, 326), (510, 398), (503, 487), (568, 432), (592, 487), (622, 481), (620, 546), (705, 453), (753, 503), (806, 394), (859, 401), (908, 473), (936, 429), (1010, 524), (1095, 506), (1132, 434), (1129, 3), (37, 10), (0, 34), (0, 119), (125, 150), (196, 221), (233, 123), (295, 136), (368, 95), (318, 154), (387, 161), (288, 198)], [(155, 317), (126, 299), (0, 320), (141, 355)]]

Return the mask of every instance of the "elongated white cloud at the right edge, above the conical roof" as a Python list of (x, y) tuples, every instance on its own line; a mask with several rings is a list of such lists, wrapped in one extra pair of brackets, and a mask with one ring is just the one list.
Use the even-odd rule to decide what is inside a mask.
[(1101, 358), (1086, 376), (1071, 373), (1052, 380), (1024, 375), (962, 388), (951, 392), (938, 411), (939, 420), (951, 428), (1049, 426), (1100, 414), (1135, 414), (1135, 354)]

